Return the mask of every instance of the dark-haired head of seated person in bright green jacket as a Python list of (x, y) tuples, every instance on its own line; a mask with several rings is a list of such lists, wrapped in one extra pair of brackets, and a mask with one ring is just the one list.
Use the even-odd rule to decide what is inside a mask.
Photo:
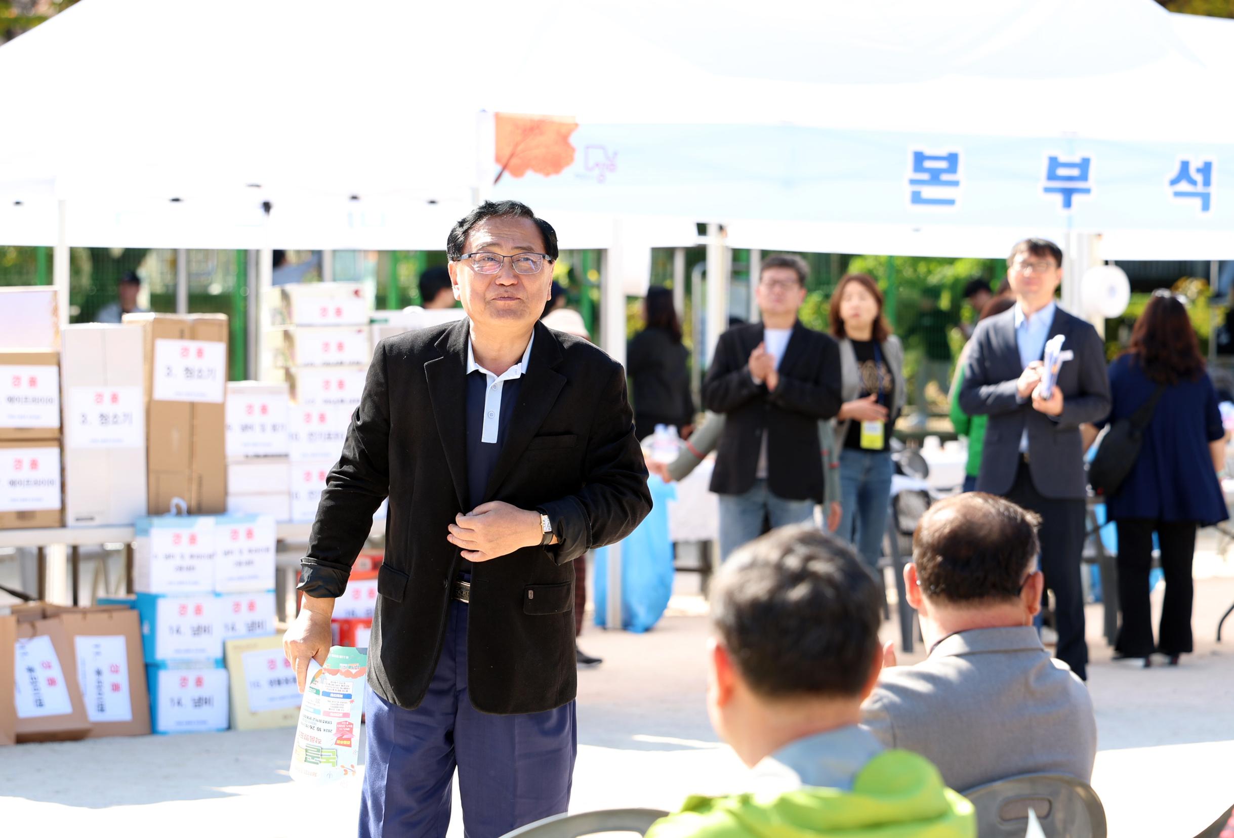
[(810, 526), (742, 547), (711, 587), (719, 642), (768, 699), (860, 696), (881, 610), (880, 587), (853, 548)]

